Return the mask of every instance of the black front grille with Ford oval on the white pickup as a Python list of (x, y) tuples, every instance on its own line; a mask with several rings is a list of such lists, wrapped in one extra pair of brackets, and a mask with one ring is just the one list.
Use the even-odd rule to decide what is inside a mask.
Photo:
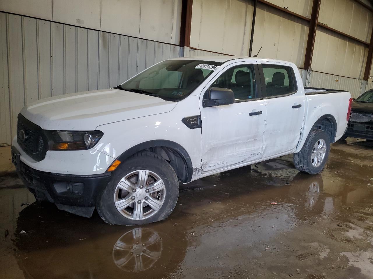
[(28, 121), (21, 114), (18, 115), (17, 142), (22, 150), (35, 161), (45, 158), (48, 141), (43, 129)]

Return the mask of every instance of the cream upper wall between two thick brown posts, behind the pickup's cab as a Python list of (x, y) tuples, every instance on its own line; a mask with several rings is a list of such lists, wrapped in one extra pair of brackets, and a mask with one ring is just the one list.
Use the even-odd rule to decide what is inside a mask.
[[(272, 0), (307, 15), (310, 0)], [(295, 3), (295, 4), (294, 4)], [(253, 6), (240, 0), (194, 0), (190, 46), (197, 49), (247, 56)], [(294, 62), (303, 67), (309, 23), (258, 3), (253, 53), (258, 57)], [(289, 39), (291, 38), (291, 39)]]

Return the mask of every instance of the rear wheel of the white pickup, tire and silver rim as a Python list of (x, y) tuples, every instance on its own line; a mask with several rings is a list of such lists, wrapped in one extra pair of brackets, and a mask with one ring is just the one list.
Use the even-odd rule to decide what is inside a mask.
[(302, 149), (294, 153), (295, 167), (304, 173), (316, 174), (322, 171), (330, 153), (329, 135), (314, 129), (308, 136)]

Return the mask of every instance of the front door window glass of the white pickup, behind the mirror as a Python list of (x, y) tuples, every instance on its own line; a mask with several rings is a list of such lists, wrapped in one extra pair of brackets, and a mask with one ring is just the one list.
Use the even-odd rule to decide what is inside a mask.
[(255, 99), (257, 97), (254, 66), (239, 65), (226, 70), (211, 87), (233, 90), (235, 102)]

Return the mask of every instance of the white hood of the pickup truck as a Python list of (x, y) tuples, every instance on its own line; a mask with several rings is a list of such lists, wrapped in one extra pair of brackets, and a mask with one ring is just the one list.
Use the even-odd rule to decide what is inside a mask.
[(26, 105), (21, 114), (46, 130), (88, 131), (97, 126), (169, 112), (175, 102), (119, 89), (50, 97)]

